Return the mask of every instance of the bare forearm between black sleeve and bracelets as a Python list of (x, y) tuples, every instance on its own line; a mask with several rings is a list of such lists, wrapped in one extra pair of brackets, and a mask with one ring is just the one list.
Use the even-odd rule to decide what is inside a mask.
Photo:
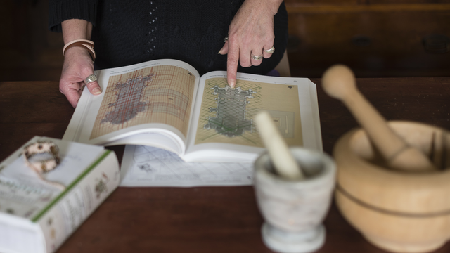
[(92, 24), (86, 20), (70, 19), (61, 23), (64, 44), (74, 39), (91, 39)]

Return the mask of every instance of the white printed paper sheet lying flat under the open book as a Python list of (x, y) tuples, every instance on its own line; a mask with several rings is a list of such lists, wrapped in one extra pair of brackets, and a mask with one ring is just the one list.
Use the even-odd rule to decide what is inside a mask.
[(252, 163), (184, 162), (167, 150), (127, 145), (120, 186), (250, 186), (252, 171)]

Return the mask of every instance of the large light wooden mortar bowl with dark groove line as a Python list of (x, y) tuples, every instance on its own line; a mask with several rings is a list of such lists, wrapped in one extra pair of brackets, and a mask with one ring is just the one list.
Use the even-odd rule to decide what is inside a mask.
[[(449, 137), (443, 129), (415, 122), (389, 125), (430, 160), (438, 156), (435, 164), (448, 164)], [(448, 166), (437, 171), (387, 169), (361, 129), (342, 136), (333, 156), (338, 166), (337, 205), (373, 245), (392, 252), (430, 252), (450, 239)]]

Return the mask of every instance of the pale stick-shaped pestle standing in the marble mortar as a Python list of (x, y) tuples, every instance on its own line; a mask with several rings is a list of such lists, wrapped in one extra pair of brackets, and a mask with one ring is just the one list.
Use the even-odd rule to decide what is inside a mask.
[(301, 180), (304, 178), (300, 165), (290, 153), (288, 145), (283, 140), (278, 129), (269, 115), (269, 112), (261, 111), (255, 116), (255, 122), (266, 146), (275, 171), (285, 179)]

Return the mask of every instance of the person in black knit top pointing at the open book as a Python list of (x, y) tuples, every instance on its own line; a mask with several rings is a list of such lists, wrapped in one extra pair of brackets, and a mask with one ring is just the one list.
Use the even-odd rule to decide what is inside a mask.
[[(266, 74), (283, 58), (288, 14), (282, 0), (50, 0), (49, 29), (65, 44), (95, 43), (95, 63), (84, 46), (65, 51), (59, 86), (76, 107), (94, 67), (172, 58), (200, 74), (228, 70), (231, 87), (236, 72)], [(97, 82), (86, 86), (101, 93)]]

